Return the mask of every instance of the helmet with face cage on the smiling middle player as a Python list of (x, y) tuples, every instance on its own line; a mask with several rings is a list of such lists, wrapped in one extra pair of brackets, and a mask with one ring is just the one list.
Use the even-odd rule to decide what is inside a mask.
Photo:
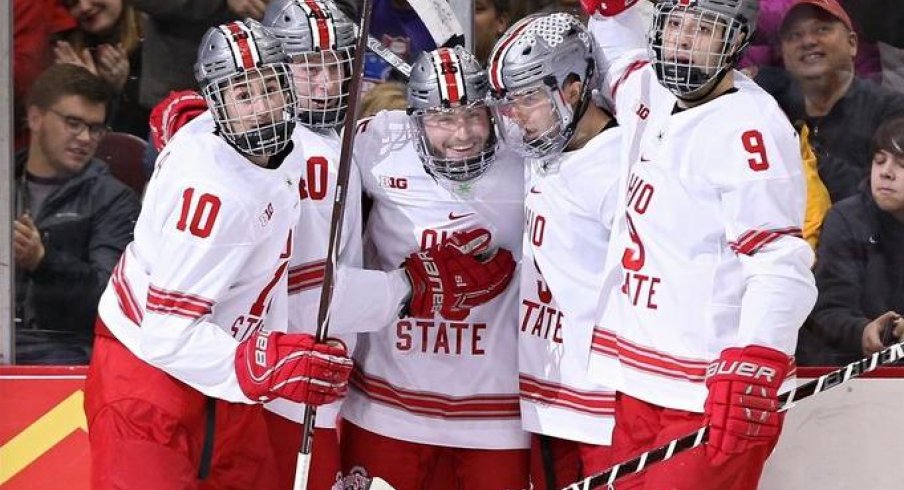
[[(411, 66), (408, 114), (415, 148), (432, 175), (464, 182), (483, 175), (492, 164), (497, 138), (486, 105), (488, 87), (486, 71), (461, 46), (426, 51)], [(488, 134), (481, 133), (486, 130)], [(481, 140), (479, 147), (458, 156), (433, 142), (433, 134), (453, 131), (465, 140)]]

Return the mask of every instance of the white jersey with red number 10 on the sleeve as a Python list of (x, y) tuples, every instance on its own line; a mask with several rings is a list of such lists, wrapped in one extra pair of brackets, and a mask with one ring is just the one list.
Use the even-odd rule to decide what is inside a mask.
[(300, 142), (266, 169), (211, 128), (210, 114), (199, 116), (157, 158), (98, 313), (140, 359), (205, 395), (252, 403), (235, 350), (257, 329), (286, 330)]

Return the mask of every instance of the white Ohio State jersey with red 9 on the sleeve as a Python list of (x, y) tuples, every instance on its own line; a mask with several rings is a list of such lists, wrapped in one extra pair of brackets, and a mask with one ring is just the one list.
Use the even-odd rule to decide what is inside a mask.
[(750, 344), (793, 354), (815, 302), (799, 145), (775, 101), (740, 72), (735, 89), (677, 110), (646, 51), (629, 49), (643, 43), (631, 29), (637, 13), (590, 22), (627, 166), (591, 374), (702, 412), (710, 361)]

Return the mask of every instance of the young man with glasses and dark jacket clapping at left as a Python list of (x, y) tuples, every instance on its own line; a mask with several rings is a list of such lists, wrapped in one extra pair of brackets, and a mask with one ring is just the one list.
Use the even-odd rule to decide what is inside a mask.
[(72, 64), (48, 68), (29, 94), (13, 222), (17, 363), (88, 362), (97, 301), (132, 240), (138, 197), (92, 159), (110, 96)]

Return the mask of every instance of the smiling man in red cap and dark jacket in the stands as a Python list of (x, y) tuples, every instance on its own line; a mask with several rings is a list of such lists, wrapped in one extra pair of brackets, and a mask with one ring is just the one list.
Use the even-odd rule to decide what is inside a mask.
[(870, 137), (904, 113), (904, 94), (855, 76), (857, 35), (836, 0), (795, 0), (780, 33), (788, 72), (761, 69), (757, 82), (792, 122), (810, 127), (820, 177), (837, 202), (857, 192), (868, 174)]

